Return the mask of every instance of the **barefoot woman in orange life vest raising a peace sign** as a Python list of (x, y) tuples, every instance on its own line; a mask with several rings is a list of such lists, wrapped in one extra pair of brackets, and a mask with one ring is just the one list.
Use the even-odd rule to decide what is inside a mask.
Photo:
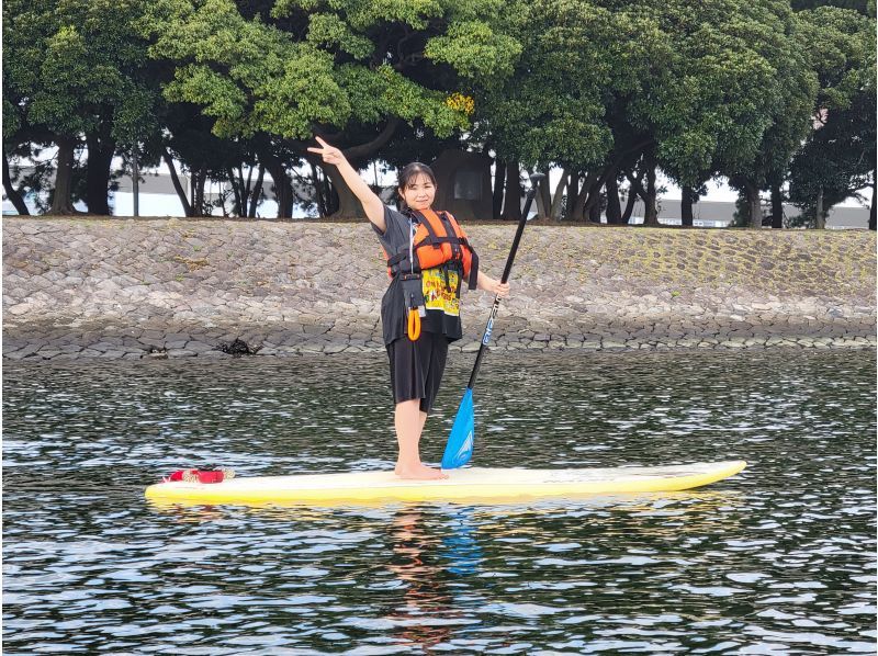
[[(469, 276), (471, 289), (505, 297), (509, 285), (479, 271), (477, 257), (453, 217), (432, 211), (436, 177), (429, 167), (413, 162), (403, 169), (397, 193), (405, 213), (397, 212), (384, 205), (338, 148), (316, 138), (320, 146), (308, 150), (338, 167), (378, 233), (393, 276), (381, 303), (381, 323), (396, 404), (394, 425), (399, 445), (396, 475), (414, 479), (447, 478), (440, 470), (420, 462), (418, 444), (442, 380), (448, 344), (462, 337), (460, 289)], [(437, 227), (444, 228), (438, 239)], [(426, 234), (434, 241), (441, 241), (442, 248), (425, 244)], [(424, 249), (418, 248), (419, 244), (424, 244)], [(437, 265), (419, 265), (421, 259), (430, 263), (427, 258), (437, 250), (450, 252), (451, 259)]]

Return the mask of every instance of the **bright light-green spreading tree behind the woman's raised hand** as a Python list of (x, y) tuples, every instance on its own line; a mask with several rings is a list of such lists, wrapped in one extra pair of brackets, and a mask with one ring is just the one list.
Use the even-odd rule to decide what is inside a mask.
[[(281, 216), (289, 216), (288, 171), (305, 160), (315, 133), (363, 166), (402, 122), (440, 137), (465, 127), (465, 112), (448, 102), (444, 87), (458, 75), (498, 70), (508, 48), (482, 16), (499, 7), (160, 0), (143, 29), (151, 56), (176, 67), (164, 87), (168, 100), (200, 108), (218, 137), (260, 137), (260, 162), (284, 196)], [(337, 215), (359, 215), (336, 172), (326, 174)]]

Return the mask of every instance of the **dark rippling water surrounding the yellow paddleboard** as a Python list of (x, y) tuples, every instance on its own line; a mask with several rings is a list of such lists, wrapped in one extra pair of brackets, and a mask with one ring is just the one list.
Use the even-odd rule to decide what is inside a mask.
[(494, 353), (481, 466), (750, 467), (516, 506), (161, 509), (143, 488), (185, 465), (391, 467), (383, 358), (8, 365), (3, 651), (875, 653), (875, 374), (874, 351)]

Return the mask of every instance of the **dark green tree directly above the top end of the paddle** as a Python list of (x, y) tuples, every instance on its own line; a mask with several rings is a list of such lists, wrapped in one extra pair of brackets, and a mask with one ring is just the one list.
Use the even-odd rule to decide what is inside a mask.
[[(609, 151), (601, 90), (614, 71), (596, 63), (609, 47), (611, 23), (610, 12), (590, 3), (542, 0), (515, 3), (498, 24), (520, 43), (510, 50), (515, 72), (474, 80), (465, 89), (475, 99), (474, 139), (493, 148), (506, 169), (506, 217), (517, 217), (519, 166), (563, 168), (556, 202), (551, 202), (548, 182), (537, 196), (540, 215), (556, 216), (571, 179)], [(497, 185), (504, 183), (503, 173)]]

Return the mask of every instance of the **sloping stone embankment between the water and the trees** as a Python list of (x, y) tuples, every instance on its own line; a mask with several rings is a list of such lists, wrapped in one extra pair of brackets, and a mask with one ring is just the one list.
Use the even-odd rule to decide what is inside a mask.
[[(498, 276), (515, 226), (469, 226)], [(868, 347), (865, 231), (532, 225), (500, 349)], [(3, 357), (229, 358), (381, 351), (387, 284), (364, 223), (3, 220)], [(493, 298), (464, 293), (475, 350)]]

